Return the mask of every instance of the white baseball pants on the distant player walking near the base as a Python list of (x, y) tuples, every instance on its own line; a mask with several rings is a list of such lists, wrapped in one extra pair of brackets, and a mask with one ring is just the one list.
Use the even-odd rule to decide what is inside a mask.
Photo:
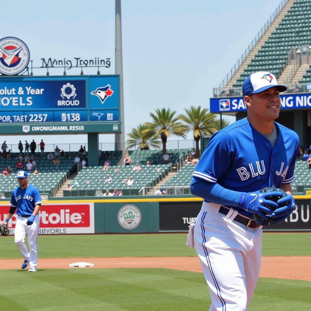
[[(14, 238), (17, 248), (21, 252), (21, 255), (25, 260), (29, 260), (30, 267), (37, 267), (38, 260), (38, 232), (40, 217), (39, 214), (35, 216), (35, 220), (32, 225), (26, 224), (27, 218), (17, 216)], [(25, 245), (25, 236), (28, 235), (29, 252)]]

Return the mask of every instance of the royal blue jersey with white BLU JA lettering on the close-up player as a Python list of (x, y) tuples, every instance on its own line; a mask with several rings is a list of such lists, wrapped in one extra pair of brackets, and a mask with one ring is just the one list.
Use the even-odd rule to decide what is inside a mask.
[[(222, 187), (253, 192), (267, 186), (279, 188), (295, 179), (295, 161), (299, 149), (298, 135), (276, 123), (278, 137), (270, 141), (255, 130), (246, 118), (216, 132), (204, 150), (193, 177)], [(239, 213), (252, 214), (238, 207)]]

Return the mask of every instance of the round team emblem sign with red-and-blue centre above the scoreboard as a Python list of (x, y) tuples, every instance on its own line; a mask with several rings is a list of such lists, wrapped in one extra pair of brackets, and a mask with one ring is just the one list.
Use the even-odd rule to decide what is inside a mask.
[(17, 75), (29, 63), (29, 49), (20, 39), (6, 37), (0, 39), (0, 73), (3, 75)]

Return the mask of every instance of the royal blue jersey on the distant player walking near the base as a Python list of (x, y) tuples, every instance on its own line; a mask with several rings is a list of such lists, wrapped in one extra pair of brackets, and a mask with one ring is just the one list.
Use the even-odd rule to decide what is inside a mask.
[(35, 206), (42, 204), (39, 190), (30, 184), (25, 189), (14, 189), (10, 203), (12, 207), (17, 207), (17, 215), (31, 215)]

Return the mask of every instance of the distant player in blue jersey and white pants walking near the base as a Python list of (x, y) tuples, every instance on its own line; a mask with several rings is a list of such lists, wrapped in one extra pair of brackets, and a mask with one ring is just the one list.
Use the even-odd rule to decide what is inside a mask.
[[(25, 269), (28, 265), (28, 272), (37, 271), (38, 260), (38, 231), (39, 231), (39, 211), (41, 207), (41, 197), (39, 190), (28, 184), (28, 174), (25, 171), (20, 171), (16, 176), (19, 187), (13, 190), (11, 197), (11, 208), (4, 224), (13, 216), (17, 208), (17, 221), (15, 225), (14, 238), (15, 243), (24, 257), (24, 262), (21, 265)], [(29, 252), (25, 245), (25, 236), (28, 235)]]

